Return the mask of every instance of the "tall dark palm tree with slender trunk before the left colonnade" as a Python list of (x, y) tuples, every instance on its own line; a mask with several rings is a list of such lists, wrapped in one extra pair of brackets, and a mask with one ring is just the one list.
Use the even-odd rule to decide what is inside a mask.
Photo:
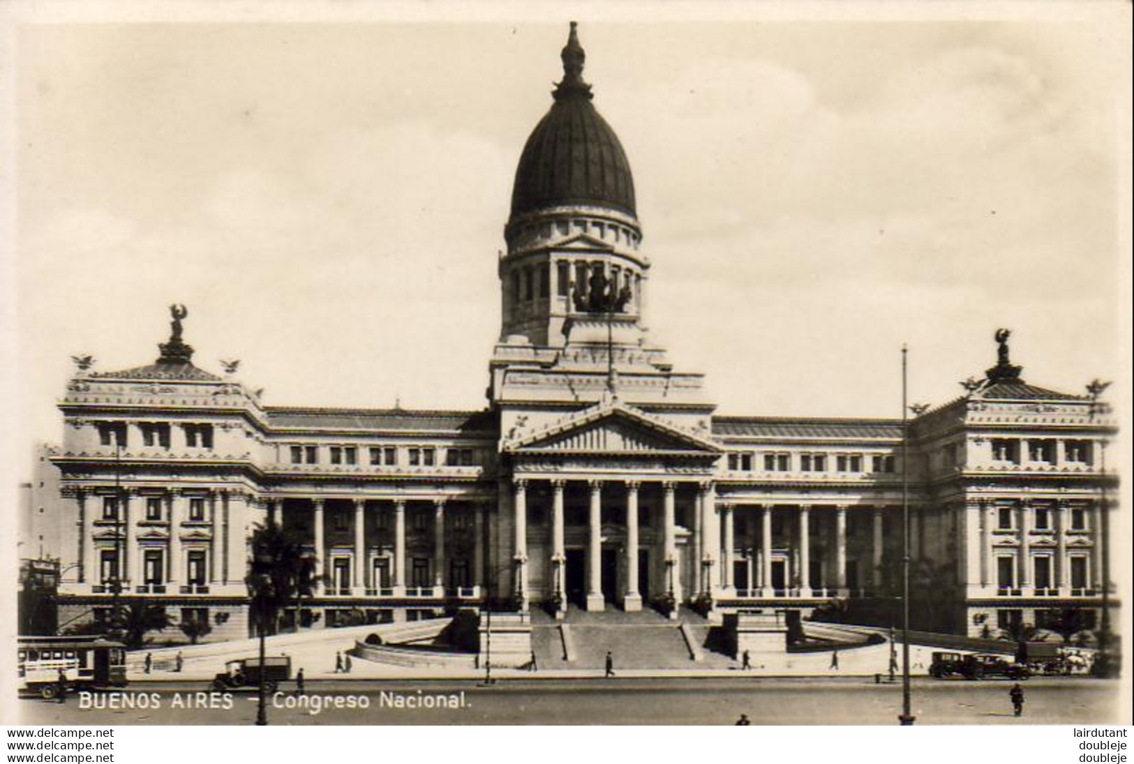
[(268, 723), (264, 697), (264, 638), (276, 631), (280, 614), (291, 602), (311, 594), (315, 584), (315, 557), (304, 549), (295, 533), (269, 521), (252, 534), (252, 563), (245, 583), (248, 586), (249, 616), (260, 635), (260, 707), (256, 724)]

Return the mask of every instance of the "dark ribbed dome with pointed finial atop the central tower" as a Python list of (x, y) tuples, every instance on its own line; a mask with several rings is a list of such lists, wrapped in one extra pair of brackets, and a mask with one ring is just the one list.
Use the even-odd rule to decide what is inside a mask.
[(636, 217), (634, 178), (618, 136), (591, 103), (585, 54), (575, 24), (561, 54), (556, 102), (524, 145), (511, 192), (511, 217), (559, 205), (612, 207)]

